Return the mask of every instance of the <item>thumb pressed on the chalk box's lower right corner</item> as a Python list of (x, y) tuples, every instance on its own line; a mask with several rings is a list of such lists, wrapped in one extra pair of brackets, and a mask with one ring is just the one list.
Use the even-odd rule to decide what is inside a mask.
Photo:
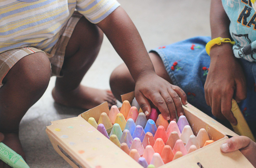
[[(253, 141), (245, 136), (236, 136), (228, 139), (225, 143), (220, 145), (220, 150), (222, 152), (233, 152), (235, 150), (243, 149), (247, 147)], [(249, 148), (249, 146), (248, 146)]]

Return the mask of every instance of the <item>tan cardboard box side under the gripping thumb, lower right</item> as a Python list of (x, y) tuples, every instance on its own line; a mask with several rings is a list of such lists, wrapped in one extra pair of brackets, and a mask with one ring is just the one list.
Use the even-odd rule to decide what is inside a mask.
[(210, 168), (210, 167), (232, 167), (232, 168), (254, 168), (253, 165), (239, 151), (223, 153), (220, 145), (228, 138), (224, 137), (210, 145), (178, 158), (161, 168), (186, 167), (186, 168)]

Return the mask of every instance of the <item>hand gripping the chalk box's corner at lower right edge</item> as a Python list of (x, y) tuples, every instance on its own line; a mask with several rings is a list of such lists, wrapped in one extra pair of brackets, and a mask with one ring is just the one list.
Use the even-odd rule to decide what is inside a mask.
[(256, 167), (256, 143), (245, 136), (232, 137), (220, 146), (224, 153), (240, 150), (242, 154)]

